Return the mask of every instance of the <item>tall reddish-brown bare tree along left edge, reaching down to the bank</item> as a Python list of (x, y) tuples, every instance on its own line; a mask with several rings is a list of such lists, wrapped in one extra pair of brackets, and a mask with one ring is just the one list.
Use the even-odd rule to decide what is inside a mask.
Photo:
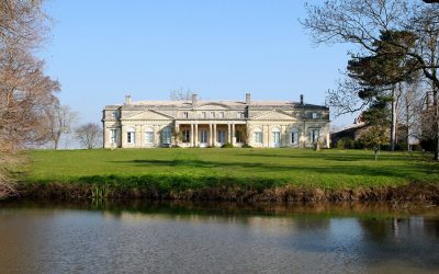
[(45, 110), (59, 83), (34, 56), (49, 30), (42, 0), (0, 1), (0, 198), (13, 193), (10, 170), (22, 148), (47, 140)]

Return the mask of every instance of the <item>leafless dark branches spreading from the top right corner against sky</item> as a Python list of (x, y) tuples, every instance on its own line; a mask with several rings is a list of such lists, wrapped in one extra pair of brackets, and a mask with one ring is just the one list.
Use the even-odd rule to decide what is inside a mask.
[(328, 0), (306, 8), (302, 24), (315, 43), (348, 43), (358, 55), (380, 54), (374, 45), (383, 32), (414, 34), (415, 46), (392, 42), (385, 54), (405, 55), (412, 64), (408, 71), (420, 72), (435, 87), (431, 113), (437, 121), (435, 160), (439, 160), (439, 7), (408, 0)]

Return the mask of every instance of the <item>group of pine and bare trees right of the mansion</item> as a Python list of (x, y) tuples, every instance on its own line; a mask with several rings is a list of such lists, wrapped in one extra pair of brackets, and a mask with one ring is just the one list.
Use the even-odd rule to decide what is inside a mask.
[(375, 151), (395, 150), (404, 128), (406, 149), (418, 139), (439, 160), (439, 5), (328, 0), (306, 9), (302, 24), (316, 44), (352, 46), (338, 88), (327, 93), (334, 113), (360, 113), (363, 141)]

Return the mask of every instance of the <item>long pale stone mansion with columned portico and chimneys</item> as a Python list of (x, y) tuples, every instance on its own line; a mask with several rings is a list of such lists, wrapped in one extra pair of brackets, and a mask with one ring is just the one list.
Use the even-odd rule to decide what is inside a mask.
[(103, 110), (104, 148), (329, 147), (329, 109), (300, 102), (139, 101)]

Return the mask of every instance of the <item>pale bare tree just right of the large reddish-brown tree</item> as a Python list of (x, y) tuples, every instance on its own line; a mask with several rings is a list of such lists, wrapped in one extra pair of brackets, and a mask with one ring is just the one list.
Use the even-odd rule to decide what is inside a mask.
[(78, 119), (78, 114), (71, 111), (68, 105), (59, 105), (56, 102), (49, 110), (47, 115), (47, 127), (49, 130), (53, 148), (57, 149), (61, 135), (71, 134), (72, 125)]

